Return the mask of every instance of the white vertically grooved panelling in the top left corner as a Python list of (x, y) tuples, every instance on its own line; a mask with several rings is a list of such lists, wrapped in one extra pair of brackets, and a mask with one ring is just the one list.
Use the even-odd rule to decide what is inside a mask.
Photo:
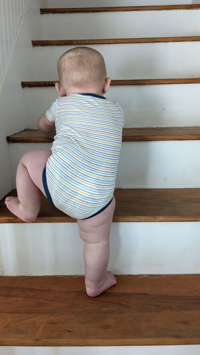
[(0, 1), (0, 83), (27, 0)]

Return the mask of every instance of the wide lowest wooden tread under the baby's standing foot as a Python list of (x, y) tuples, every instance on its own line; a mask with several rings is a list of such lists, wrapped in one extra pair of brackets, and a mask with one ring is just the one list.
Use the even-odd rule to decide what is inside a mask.
[(200, 344), (200, 275), (0, 277), (0, 346)]

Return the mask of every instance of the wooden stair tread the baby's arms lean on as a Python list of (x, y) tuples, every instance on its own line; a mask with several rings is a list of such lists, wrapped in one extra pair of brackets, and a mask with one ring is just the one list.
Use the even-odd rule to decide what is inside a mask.
[[(123, 142), (200, 140), (200, 127), (138, 127), (124, 128)], [(37, 129), (25, 129), (7, 137), (9, 143), (51, 143), (52, 138)]]

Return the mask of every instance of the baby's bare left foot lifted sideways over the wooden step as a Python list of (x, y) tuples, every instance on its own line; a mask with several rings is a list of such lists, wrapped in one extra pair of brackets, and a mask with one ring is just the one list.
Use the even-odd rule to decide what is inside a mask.
[(23, 204), (19, 201), (18, 197), (6, 197), (5, 204), (10, 212), (15, 214), (24, 222), (33, 223), (37, 218), (37, 212), (31, 210), (28, 211), (27, 208), (25, 208), (25, 206), (23, 206)]

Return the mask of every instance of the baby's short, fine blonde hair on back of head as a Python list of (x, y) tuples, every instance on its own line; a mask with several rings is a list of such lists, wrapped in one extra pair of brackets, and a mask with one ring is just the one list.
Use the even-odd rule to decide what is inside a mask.
[(67, 50), (58, 61), (58, 77), (65, 87), (82, 88), (103, 84), (106, 78), (103, 56), (88, 47)]

